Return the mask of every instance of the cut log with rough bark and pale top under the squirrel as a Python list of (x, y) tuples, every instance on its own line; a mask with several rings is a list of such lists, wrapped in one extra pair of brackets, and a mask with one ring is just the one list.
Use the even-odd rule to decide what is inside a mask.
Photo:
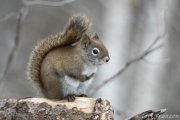
[(113, 120), (110, 102), (76, 98), (74, 102), (45, 98), (0, 100), (0, 120)]

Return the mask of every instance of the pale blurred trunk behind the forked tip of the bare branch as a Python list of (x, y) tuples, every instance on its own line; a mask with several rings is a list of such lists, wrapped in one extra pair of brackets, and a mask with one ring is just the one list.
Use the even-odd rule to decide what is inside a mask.
[[(137, 5), (136, 5), (137, 4)], [(131, 57), (138, 56), (142, 51), (154, 41), (154, 39), (164, 34), (164, 9), (163, 1), (155, 0), (139, 0), (132, 8), (134, 12), (134, 31), (131, 37), (132, 52)], [(161, 39), (164, 41), (164, 38)], [(152, 55), (149, 55), (146, 61), (140, 61), (131, 68), (129, 77), (129, 91), (127, 93), (125, 108), (132, 111), (141, 111), (142, 109), (151, 109), (156, 107), (159, 101), (156, 96), (159, 94), (157, 89), (161, 84), (160, 76), (163, 72), (164, 64), (159, 64), (164, 54), (164, 49), (161, 49)], [(142, 99), (143, 98), (143, 99)], [(134, 104), (137, 101), (137, 104)]]

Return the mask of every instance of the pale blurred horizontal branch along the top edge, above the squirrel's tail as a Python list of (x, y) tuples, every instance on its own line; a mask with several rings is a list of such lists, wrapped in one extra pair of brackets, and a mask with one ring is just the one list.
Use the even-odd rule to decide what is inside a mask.
[(29, 0), (23, 0), (23, 3), (28, 6), (32, 5), (45, 5), (45, 6), (62, 6), (71, 2), (74, 2), (75, 0), (62, 0), (62, 1), (45, 1), (45, 0), (34, 0), (34, 1), (29, 1)]

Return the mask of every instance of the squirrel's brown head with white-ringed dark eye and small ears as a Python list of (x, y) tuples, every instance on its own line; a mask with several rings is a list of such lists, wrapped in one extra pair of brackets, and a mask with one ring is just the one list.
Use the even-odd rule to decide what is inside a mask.
[(84, 34), (81, 38), (80, 45), (82, 57), (88, 63), (102, 65), (110, 60), (109, 53), (104, 44), (99, 40), (97, 34), (93, 34), (91, 37)]

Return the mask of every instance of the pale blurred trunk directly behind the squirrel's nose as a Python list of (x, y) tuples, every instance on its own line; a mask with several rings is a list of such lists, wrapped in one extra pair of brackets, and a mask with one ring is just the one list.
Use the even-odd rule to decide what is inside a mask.
[[(101, 39), (105, 42), (110, 53), (110, 62), (100, 68), (95, 84), (112, 76), (128, 60), (127, 57), (129, 56), (129, 48), (131, 46), (131, 39), (129, 39), (131, 33), (129, 31), (131, 30), (131, 25), (134, 25), (129, 1), (111, 0), (104, 2), (104, 0), (101, 0), (101, 3), (106, 8), (103, 14)], [(113, 103), (115, 119), (117, 120), (129, 116), (124, 116), (125, 112), (122, 112), (121, 115), (116, 114), (116, 111), (124, 111), (123, 102), (126, 101), (124, 100), (126, 96), (124, 93), (127, 92), (125, 89), (128, 85), (127, 82), (124, 83), (124, 79), (126, 79), (126, 75), (116, 78), (95, 94), (96, 97), (106, 98)]]

